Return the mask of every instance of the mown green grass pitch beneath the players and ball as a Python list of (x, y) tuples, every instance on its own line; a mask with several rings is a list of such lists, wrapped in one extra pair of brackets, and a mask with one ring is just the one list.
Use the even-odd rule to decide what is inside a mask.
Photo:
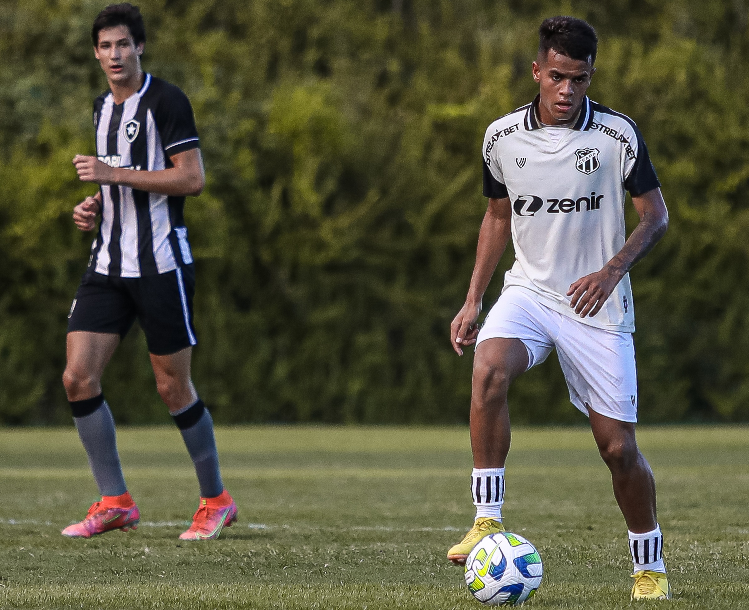
[[(217, 430), (240, 520), (180, 543), (197, 486), (177, 430), (123, 429), (141, 526), (91, 540), (59, 531), (96, 488), (70, 429), (0, 430), (0, 608), (476, 609), (446, 549), (470, 525), (461, 428)], [(749, 429), (640, 430), (658, 482), (672, 602), (749, 607)], [(530, 608), (620, 609), (626, 531), (585, 428), (513, 434), (505, 522), (545, 564)], [(669, 605), (669, 606), (666, 606)]]

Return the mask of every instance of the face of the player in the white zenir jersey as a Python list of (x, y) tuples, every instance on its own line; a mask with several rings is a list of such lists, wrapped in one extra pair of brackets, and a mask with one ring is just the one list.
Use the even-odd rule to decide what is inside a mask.
[(541, 85), (541, 122), (557, 125), (571, 121), (585, 99), (595, 68), (587, 61), (568, 58), (549, 49), (533, 62), (533, 80)]

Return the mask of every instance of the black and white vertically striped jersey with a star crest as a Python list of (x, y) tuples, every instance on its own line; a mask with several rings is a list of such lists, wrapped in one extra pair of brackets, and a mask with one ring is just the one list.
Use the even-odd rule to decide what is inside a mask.
[[(115, 168), (170, 168), (170, 156), (199, 146), (187, 96), (150, 74), (124, 103), (115, 104), (109, 92), (97, 97), (94, 128), (98, 158)], [(89, 272), (139, 278), (192, 263), (184, 197), (103, 185), (101, 198), (102, 218), (91, 246)]]

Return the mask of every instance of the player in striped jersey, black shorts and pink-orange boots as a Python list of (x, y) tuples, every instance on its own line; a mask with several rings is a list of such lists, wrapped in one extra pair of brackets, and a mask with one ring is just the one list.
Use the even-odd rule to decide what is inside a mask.
[(237, 507), (222, 484), (213, 421), (190, 377), (195, 269), (183, 208), (205, 183), (192, 107), (175, 85), (141, 69), (145, 27), (138, 7), (106, 7), (91, 34), (109, 91), (94, 103), (97, 156), (76, 155), (73, 165), (80, 180), (100, 189), (76, 206), (73, 221), (93, 231), (101, 219), (68, 316), (63, 382), (102, 498), (62, 534), (88, 538), (139, 521), (100, 384), (137, 318), (157, 389), (200, 486), (198, 510), (180, 538), (216, 538), (237, 519)]

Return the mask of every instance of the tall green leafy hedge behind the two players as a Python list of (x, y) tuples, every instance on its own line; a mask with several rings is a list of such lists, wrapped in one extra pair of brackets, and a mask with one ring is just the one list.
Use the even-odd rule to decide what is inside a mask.
[[(106, 88), (91, 0), (0, 3), (0, 421), (70, 421), (67, 311), (91, 234)], [(216, 421), (467, 421), (449, 322), (473, 267), (480, 146), (536, 93), (546, 16), (601, 39), (594, 100), (640, 126), (670, 209), (632, 272), (642, 421), (749, 419), (749, 31), (743, 0), (152, 0), (144, 67), (195, 109), (207, 189), (188, 200)], [(634, 214), (630, 210), (630, 228)], [(500, 263), (512, 261), (508, 252)], [(502, 282), (497, 272), (485, 311)], [(553, 361), (554, 359), (550, 359)], [(166, 421), (139, 331), (107, 370), (118, 421)], [(580, 421), (556, 362), (515, 383), (516, 422)]]

